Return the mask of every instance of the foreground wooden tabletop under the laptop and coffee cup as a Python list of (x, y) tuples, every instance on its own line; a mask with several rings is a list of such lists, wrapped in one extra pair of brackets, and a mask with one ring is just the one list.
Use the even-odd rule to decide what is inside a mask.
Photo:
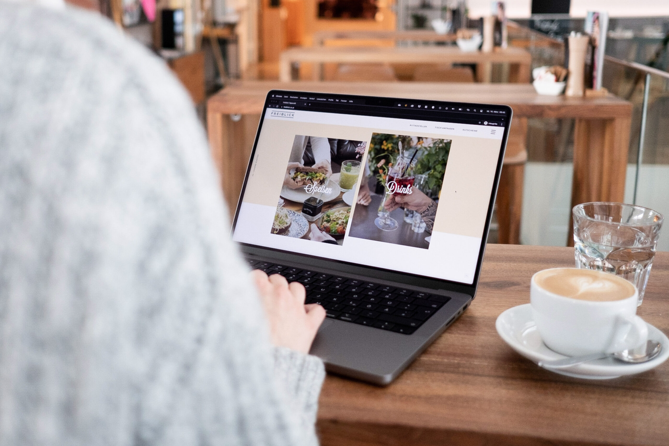
[[(323, 446), (669, 444), (669, 362), (613, 380), (543, 370), (507, 346), (497, 316), (529, 303), (535, 271), (573, 249), (488, 245), (474, 302), (386, 388), (328, 376)], [(669, 334), (669, 253), (658, 253), (638, 314)]]

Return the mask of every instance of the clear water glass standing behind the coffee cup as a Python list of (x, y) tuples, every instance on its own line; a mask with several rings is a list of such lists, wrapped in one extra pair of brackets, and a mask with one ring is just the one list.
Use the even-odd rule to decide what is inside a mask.
[(644, 300), (662, 227), (662, 214), (623, 203), (583, 203), (572, 211), (576, 267), (619, 275)]

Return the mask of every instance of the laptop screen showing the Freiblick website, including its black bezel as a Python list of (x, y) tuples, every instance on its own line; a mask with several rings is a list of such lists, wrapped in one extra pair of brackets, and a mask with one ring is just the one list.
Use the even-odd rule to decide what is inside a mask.
[(510, 114), (274, 90), (233, 239), (473, 284)]

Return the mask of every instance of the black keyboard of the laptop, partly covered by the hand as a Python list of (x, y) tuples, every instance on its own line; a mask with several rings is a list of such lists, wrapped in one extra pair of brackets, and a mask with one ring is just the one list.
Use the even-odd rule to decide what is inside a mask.
[(306, 304), (325, 308), (328, 318), (412, 334), (450, 298), (364, 282), (267, 261), (248, 259), (253, 269), (280, 274), (306, 288)]

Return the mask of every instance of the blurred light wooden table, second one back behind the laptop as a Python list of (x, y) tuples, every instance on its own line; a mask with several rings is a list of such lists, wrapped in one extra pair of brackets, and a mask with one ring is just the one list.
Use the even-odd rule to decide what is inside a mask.
[(530, 81), (532, 56), (521, 48), (496, 48), (495, 51), (465, 52), (458, 47), (293, 47), (279, 57), (279, 79), (292, 80), (292, 64), (314, 64), (314, 81), (322, 78), (322, 64), (476, 64), (478, 82), (490, 82), (490, 64), (512, 66), (510, 82)]

